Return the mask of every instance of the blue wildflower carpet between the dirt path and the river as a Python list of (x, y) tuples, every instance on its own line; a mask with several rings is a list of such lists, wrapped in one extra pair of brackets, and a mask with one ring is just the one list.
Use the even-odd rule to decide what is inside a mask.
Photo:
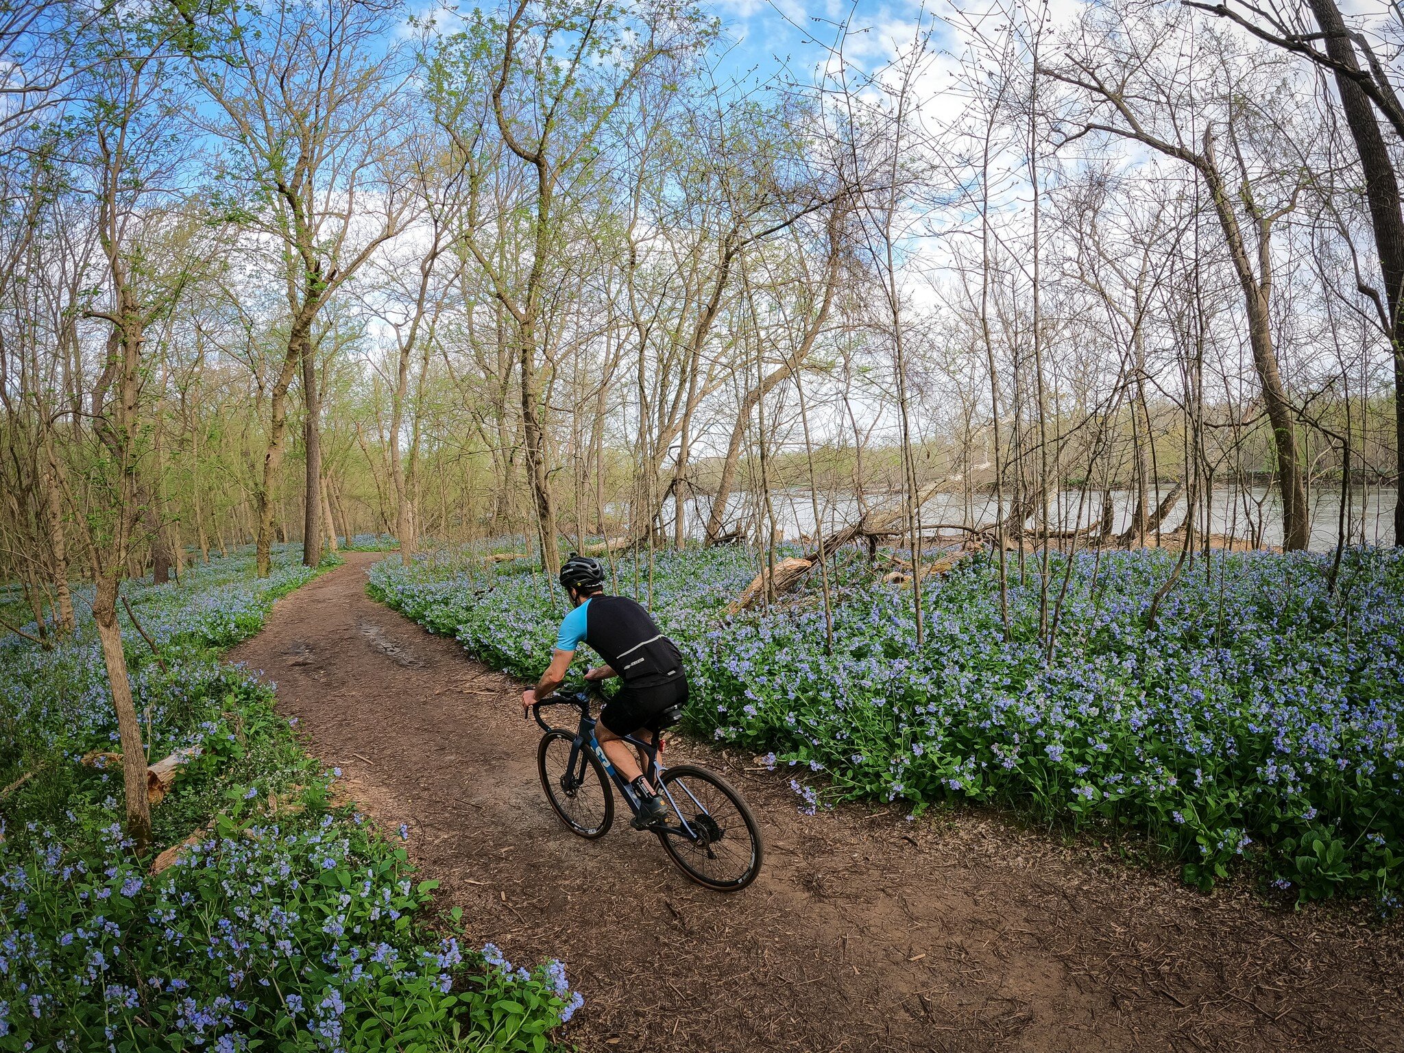
[[(837, 799), (991, 802), (1141, 844), (1209, 889), (1236, 868), (1275, 896), (1366, 896), (1404, 878), (1404, 556), (1214, 553), (1154, 619), (1174, 553), (1078, 555), (1056, 647), (1039, 639), (1036, 562), (976, 556), (924, 594), (858, 555), (834, 574), (834, 653), (819, 581), (729, 616), (751, 580), (739, 549), (616, 564), (687, 656), (695, 733), (789, 765), (802, 810)], [(1067, 564), (1053, 560), (1056, 594)], [(473, 654), (539, 674), (564, 614), (519, 560), (373, 567), (371, 592)]]

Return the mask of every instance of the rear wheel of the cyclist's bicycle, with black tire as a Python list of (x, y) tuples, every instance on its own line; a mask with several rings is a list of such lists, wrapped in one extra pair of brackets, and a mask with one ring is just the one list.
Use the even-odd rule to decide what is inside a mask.
[(720, 775), (680, 764), (663, 772), (665, 796), (694, 831), (658, 831), (658, 840), (684, 873), (720, 892), (740, 892), (761, 872), (765, 847), (751, 809)]

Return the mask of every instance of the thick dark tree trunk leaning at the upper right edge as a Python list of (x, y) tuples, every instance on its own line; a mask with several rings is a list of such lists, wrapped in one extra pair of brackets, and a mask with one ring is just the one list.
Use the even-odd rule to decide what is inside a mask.
[[(1325, 34), (1331, 60), (1358, 70), (1355, 48), (1346, 37), (1345, 20), (1335, 0), (1307, 0), (1317, 25)], [(1375, 250), (1384, 278), (1384, 302), (1389, 309), (1386, 327), (1394, 350), (1394, 452), (1398, 479), (1404, 480), (1404, 215), (1400, 212), (1400, 187), (1379, 119), (1369, 97), (1351, 77), (1335, 74), (1341, 110), (1355, 139), (1365, 174), (1365, 197), (1375, 229)], [(1404, 545), (1404, 501), (1394, 503), (1394, 543)]]

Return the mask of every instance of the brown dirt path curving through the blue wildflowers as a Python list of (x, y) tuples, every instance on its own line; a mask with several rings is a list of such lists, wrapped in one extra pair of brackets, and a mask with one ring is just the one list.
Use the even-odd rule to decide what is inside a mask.
[(1404, 1050), (1404, 932), (1264, 910), (980, 814), (797, 814), (783, 774), (678, 741), (741, 786), (765, 872), (720, 896), (618, 824), (569, 834), (521, 685), (364, 592), (376, 556), (278, 602), (233, 653), (307, 747), (442, 880), (468, 939), (562, 958), (583, 1050)]

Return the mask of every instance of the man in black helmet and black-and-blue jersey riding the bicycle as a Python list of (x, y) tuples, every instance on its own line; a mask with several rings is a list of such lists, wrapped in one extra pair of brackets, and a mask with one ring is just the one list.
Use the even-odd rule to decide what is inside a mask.
[(646, 830), (651, 823), (665, 821), (668, 810), (643, 775), (647, 754), (639, 750), (636, 762), (622, 739), (635, 734), (657, 744), (663, 712), (688, 701), (682, 656), (643, 607), (628, 597), (605, 595), (605, 570), (600, 560), (571, 552), (560, 569), (560, 584), (574, 607), (560, 623), (550, 665), (535, 688), (522, 692), (522, 706), (532, 706), (559, 688), (576, 647), (588, 643), (605, 664), (585, 673), (585, 680), (619, 677), (623, 681), (600, 710), (595, 737), (639, 796), (643, 812), (633, 824)]

